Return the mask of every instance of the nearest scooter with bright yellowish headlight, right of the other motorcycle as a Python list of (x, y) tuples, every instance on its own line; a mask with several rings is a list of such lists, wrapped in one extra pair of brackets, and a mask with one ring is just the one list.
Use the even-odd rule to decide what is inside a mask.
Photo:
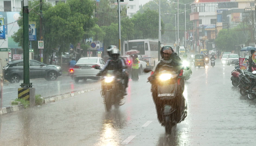
[[(153, 72), (150, 68), (144, 69), (145, 73)], [(157, 93), (156, 104), (160, 104), (160, 112), (163, 115), (162, 125), (165, 126), (165, 132), (171, 134), (172, 127), (176, 126), (177, 123), (182, 122), (187, 117), (187, 101), (183, 97), (184, 82), (182, 79), (184, 76), (182, 71), (177, 74), (173, 71), (173, 66), (165, 65), (159, 69), (158, 76), (155, 76), (150, 82), (155, 88)], [(184, 100), (183, 100), (184, 99)], [(180, 107), (177, 106), (180, 103)], [(178, 114), (178, 108), (181, 113)], [(178, 116), (180, 115), (180, 116)]]

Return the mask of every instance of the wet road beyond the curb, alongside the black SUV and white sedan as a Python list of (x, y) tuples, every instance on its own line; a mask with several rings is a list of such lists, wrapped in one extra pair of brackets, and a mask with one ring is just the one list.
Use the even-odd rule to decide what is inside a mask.
[[(35, 94), (40, 94), (43, 97), (100, 87), (101, 85), (98, 81), (90, 79), (87, 81), (80, 80), (78, 84), (75, 84), (67, 75), (58, 77), (56, 81), (46, 81), (44, 78), (37, 78), (31, 79), (30, 82), (32, 82), (33, 87), (35, 87)], [(18, 98), (18, 88), (20, 88), (21, 83), (23, 83), (23, 80), (16, 84), (9, 82), (4, 84), (3, 107), (9, 106), (11, 100)]]

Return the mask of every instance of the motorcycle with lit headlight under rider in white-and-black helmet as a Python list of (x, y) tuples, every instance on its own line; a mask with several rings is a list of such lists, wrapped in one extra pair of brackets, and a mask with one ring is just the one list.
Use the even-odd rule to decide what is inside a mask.
[[(95, 66), (95, 69), (100, 69), (100, 66)], [(127, 69), (123, 66), (122, 69)], [(104, 98), (105, 110), (109, 112), (112, 105), (119, 108), (124, 105), (124, 80), (121, 79), (121, 74), (116, 70), (107, 70), (102, 77), (101, 96)]]

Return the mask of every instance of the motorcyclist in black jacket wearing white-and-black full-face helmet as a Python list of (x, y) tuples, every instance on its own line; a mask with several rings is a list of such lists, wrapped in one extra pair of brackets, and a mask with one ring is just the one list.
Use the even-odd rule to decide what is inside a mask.
[(124, 79), (124, 96), (127, 95), (126, 88), (128, 87), (129, 73), (127, 69), (122, 69), (125, 66), (125, 61), (120, 57), (120, 50), (117, 46), (110, 45), (107, 48), (109, 59), (103, 66), (102, 70), (96, 76), (103, 76), (106, 70), (117, 70), (121, 72), (122, 78)]

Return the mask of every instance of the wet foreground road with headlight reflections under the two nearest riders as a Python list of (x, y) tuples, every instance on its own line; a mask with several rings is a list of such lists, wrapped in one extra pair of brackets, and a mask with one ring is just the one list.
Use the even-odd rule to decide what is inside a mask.
[(187, 118), (166, 135), (157, 120), (148, 74), (130, 81), (126, 103), (105, 112), (99, 91), (1, 115), (1, 145), (252, 146), (256, 104), (231, 85), (234, 66), (192, 68)]

